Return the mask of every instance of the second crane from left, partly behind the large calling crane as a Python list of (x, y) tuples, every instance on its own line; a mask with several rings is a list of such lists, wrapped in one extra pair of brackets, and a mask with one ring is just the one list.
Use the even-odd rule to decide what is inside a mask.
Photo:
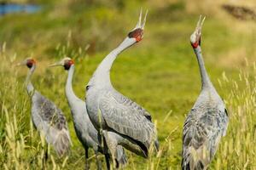
[[(84, 146), (85, 150), (85, 169), (89, 169), (89, 148), (92, 148), (96, 154), (96, 163), (97, 168), (101, 169), (101, 163), (98, 160), (99, 152), (103, 153), (103, 148), (100, 145), (98, 139), (98, 132), (93, 124), (90, 122), (90, 117), (88, 116), (86, 105), (84, 105), (84, 101), (79, 99), (76, 94), (73, 92), (72, 81), (73, 81), (73, 72), (75, 69), (74, 61), (70, 58), (61, 59), (61, 61), (50, 65), (50, 66), (63, 66), (65, 70), (68, 71), (67, 82), (65, 93), (67, 97), (68, 105), (71, 109), (71, 113), (73, 116), (73, 125), (75, 128), (75, 132)], [(124, 165), (126, 161), (125, 150), (122, 146), (119, 146), (119, 158), (116, 160), (118, 164)], [(105, 153), (105, 156), (108, 157), (108, 153)], [(107, 165), (108, 169), (110, 168)]]

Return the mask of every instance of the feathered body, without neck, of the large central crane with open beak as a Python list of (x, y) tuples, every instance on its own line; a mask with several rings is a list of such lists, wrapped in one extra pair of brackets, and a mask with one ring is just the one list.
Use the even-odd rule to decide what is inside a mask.
[[(98, 98), (96, 96), (91, 100), (90, 97), (86, 98), (86, 105), (98, 100), (96, 104), (99, 107), (89, 106), (87, 111), (96, 113), (91, 116), (91, 121), (98, 130), (103, 129), (105, 138), (112, 140), (107, 140), (107, 144), (108, 142), (110, 146), (120, 144), (137, 155), (147, 157), (150, 144), (156, 138), (154, 123), (151, 122), (149, 113), (131, 99), (119, 94), (114, 88), (108, 90), (105, 88), (98, 92), (101, 94), (97, 96)], [(87, 96), (89, 95), (90, 93)]]

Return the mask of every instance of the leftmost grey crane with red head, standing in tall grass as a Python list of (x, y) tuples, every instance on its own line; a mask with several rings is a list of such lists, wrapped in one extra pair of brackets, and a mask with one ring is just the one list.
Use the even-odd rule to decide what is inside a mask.
[(26, 77), (26, 92), (32, 100), (32, 122), (39, 133), (44, 135), (47, 143), (53, 145), (57, 155), (63, 156), (72, 144), (66, 118), (52, 101), (45, 98), (33, 87), (31, 77), (36, 70), (35, 59), (25, 59), (18, 65), (26, 65), (29, 68)]

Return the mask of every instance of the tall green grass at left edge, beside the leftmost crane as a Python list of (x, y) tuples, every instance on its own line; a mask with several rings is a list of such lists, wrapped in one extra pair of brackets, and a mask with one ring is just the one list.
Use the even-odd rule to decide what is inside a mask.
[[(15, 56), (5, 53), (5, 43), (0, 51), (1, 64), (1, 123), (0, 123), (0, 168), (1, 169), (61, 169), (66, 167), (67, 157), (57, 163), (56, 156), (49, 154), (45, 165), (47, 148), (43, 136), (35, 131), (30, 121), (30, 99), (24, 84), (18, 81), (19, 69)], [(61, 163), (60, 163), (61, 162)]]

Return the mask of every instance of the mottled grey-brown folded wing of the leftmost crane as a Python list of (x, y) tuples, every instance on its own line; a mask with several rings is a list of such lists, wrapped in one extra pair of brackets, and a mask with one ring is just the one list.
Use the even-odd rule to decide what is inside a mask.
[(69, 150), (72, 141), (62, 111), (37, 91), (32, 96), (33, 122), (46, 141), (53, 144), (59, 156)]

